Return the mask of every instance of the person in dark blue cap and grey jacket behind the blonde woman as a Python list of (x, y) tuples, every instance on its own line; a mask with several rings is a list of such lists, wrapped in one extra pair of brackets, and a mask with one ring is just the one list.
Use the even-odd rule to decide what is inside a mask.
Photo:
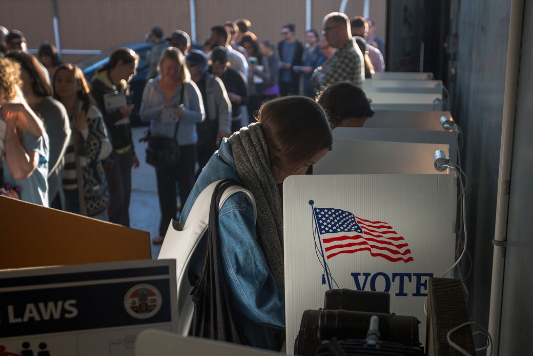
[[(205, 121), (197, 125), (198, 166), (201, 171), (219, 147), (221, 140), (231, 135), (231, 102), (222, 80), (207, 72), (207, 57), (204, 52), (189, 51), (185, 61), (192, 81), (200, 90), (205, 108)], [(182, 204), (184, 202), (185, 200), (182, 200)]]

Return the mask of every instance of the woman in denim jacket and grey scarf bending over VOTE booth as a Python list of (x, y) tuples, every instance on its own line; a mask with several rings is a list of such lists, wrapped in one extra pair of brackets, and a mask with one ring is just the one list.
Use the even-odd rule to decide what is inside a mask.
[[(277, 332), (285, 329), (281, 185), (290, 175), (305, 174), (328, 152), (333, 137), (324, 109), (310, 98), (266, 101), (257, 120), (223, 139), (198, 177), (180, 223), (216, 180), (236, 180), (253, 193), (257, 224), (244, 195), (232, 195), (219, 211), (219, 246), (231, 304), (247, 341), (273, 350)], [(205, 241), (200, 243), (190, 275), (199, 276), (203, 268)]]

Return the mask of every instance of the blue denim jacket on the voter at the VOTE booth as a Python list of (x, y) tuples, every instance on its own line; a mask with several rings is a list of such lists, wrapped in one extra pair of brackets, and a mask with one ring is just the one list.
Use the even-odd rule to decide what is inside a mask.
[[(198, 195), (219, 179), (240, 181), (228, 139), (206, 164), (183, 207), (184, 223)], [(261, 213), (261, 212), (258, 212)], [(245, 195), (232, 195), (219, 211), (219, 237), (223, 266), (232, 302), (244, 317), (243, 329), (252, 346), (276, 347), (277, 329), (285, 328), (285, 288), (277, 286), (256, 239), (254, 214)], [(197, 249), (189, 273), (200, 275), (205, 242)]]

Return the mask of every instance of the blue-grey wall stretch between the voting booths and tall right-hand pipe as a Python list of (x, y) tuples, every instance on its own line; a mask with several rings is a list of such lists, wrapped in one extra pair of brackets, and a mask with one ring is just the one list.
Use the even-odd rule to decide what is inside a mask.
[[(488, 327), (492, 244), (511, 0), (461, 1), (458, 73), (453, 115), (464, 132), (468, 176), (467, 227), (472, 273), (467, 280), (472, 320)], [(465, 273), (469, 259), (462, 264)]]

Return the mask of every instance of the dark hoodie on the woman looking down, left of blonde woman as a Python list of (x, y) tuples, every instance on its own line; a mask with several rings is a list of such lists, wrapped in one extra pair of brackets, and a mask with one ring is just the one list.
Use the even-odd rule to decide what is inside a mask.
[(109, 130), (111, 136), (111, 144), (113, 149), (120, 151), (127, 151), (129, 146), (133, 147), (132, 130), (129, 123), (116, 124), (117, 121), (122, 120), (120, 110), (116, 109), (113, 112), (106, 112), (106, 105), (104, 104), (104, 94), (108, 93), (124, 93), (127, 101), (130, 102), (130, 88), (126, 81), (120, 81), (119, 86), (114, 85), (109, 78), (109, 71), (96, 73), (91, 81), (91, 94), (98, 104), (98, 108), (102, 112), (103, 120)]

